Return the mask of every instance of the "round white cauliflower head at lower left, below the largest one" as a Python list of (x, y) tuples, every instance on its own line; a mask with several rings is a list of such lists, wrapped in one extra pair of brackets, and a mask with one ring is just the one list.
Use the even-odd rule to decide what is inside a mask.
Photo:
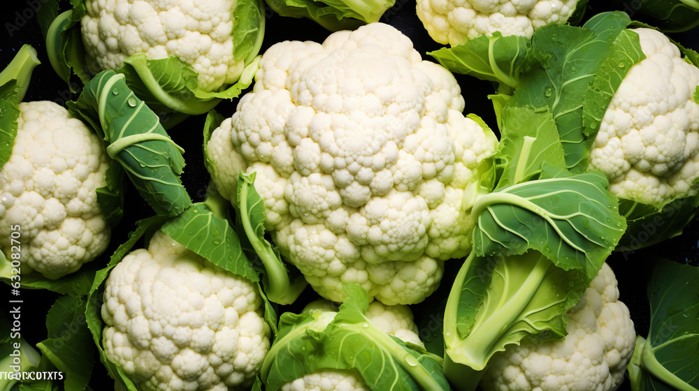
[(104, 350), (139, 390), (243, 390), (270, 347), (262, 307), (253, 283), (158, 231), (109, 274)]

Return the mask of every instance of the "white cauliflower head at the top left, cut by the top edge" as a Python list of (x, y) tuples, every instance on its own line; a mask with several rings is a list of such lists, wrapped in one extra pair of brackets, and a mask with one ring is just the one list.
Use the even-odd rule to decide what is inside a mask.
[(88, 0), (85, 6), (82, 40), (101, 69), (116, 70), (137, 53), (178, 57), (204, 91), (232, 84), (243, 72), (244, 61), (233, 57), (236, 1)]

